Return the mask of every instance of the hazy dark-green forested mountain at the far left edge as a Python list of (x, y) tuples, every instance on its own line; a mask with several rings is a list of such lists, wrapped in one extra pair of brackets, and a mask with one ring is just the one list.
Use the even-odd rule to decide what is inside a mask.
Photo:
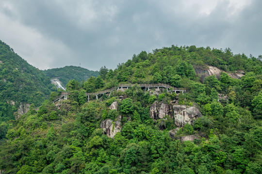
[(19, 106), (40, 106), (48, 99), (52, 87), (45, 73), (28, 64), (0, 41), (0, 123), (15, 119), (14, 112)]

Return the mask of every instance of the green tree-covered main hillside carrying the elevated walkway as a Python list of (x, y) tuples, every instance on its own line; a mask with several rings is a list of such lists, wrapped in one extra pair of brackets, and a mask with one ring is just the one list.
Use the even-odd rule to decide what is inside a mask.
[[(195, 69), (223, 70), (199, 80)], [(230, 73), (244, 72), (240, 79)], [(185, 93), (139, 85), (90, 97), (119, 84), (169, 84)], [(262, 57), (229, 48), (175, 46), (142, 51), (98, 77), (69, 80), (67, 100), (38, 108), (0, 129), (3, 174), (261, 174)], [(169, 108), (162, 114), (154, 107)], [(176, 122), (176, 107), (201, 114)], [(171, 109), (170, 109), (171, 108)], [(181, 112), (180, 112), (181, 113)], [(172, 136), (171, 136), (172, 135)], [(191, 141), (183, 138), (194, 136)]]

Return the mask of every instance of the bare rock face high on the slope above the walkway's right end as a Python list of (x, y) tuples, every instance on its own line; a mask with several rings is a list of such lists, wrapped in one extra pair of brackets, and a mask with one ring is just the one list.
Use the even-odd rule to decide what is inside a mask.
[[(213, 66), (208, 66), (207, 69), (195, 68), (195, 72), (200, 76), (200, 81), (203, 82), (204, 78), (210, 75), (215, 75), (217, 79), (220, 79), (220, 74), (223, 73), (224, 71)], [(232, 78), (240, 79), (242, 76), (244, 76), (245, 72), (238, 71), (236, 73), (228, 73), (228, 74)]]

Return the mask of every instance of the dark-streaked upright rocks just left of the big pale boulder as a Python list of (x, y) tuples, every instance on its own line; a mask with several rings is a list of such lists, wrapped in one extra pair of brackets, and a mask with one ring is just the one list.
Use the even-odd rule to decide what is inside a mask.
[(154, 120), (164, 118), (165, 115), (172, 117), (172, 108), (169, 104), (158, 103), (157, 101), (150, 106), (150, 117)]

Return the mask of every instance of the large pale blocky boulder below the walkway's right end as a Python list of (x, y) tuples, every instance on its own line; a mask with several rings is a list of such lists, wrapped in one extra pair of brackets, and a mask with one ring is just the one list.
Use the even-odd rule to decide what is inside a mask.
[(186, 123), (192, 124), (195, 119), (202, 116), (200, 111), (195, 107), (186, 107), (185, 105), (174, 105), (174, 119), (178, 127), (183, 127)]

